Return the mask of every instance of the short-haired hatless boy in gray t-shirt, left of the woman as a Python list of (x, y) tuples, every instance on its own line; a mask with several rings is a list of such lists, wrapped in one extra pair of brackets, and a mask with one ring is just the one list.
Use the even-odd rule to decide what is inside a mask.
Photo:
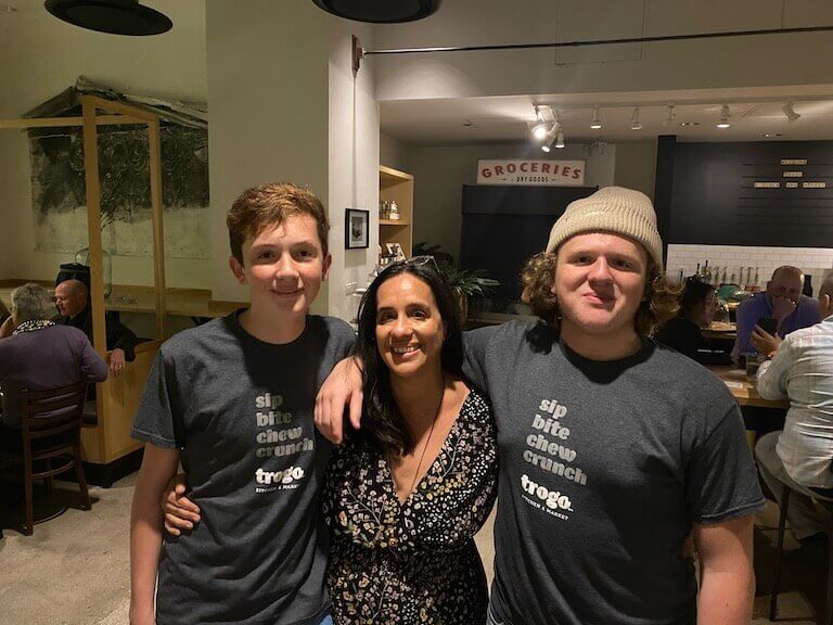
[[(133, 421), (146, 444), (131, 515), (131, 625), (331, 623), (319, 513), (330, 446), (312, 409), (354, 333), (308, 314), (330, 268), (329, 224), (293, 184), (249, 189), (227, 222), (251, 307), (167, 341)], [(179, 462), (202, 522), (163, 537), (159, 499)]]

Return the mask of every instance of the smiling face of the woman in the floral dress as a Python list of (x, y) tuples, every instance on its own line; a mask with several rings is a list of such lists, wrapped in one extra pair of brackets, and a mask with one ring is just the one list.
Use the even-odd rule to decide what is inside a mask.
[(441, 369), (445, 327), (431, 286), (410, 273), (386, 280), (376, 294), (376, 346), (392, 377)]

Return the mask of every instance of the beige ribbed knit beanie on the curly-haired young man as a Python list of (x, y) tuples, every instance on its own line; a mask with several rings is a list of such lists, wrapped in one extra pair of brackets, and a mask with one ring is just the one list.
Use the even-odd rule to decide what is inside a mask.
[(656, 214), (651, 200), (644, 193), (605, 187), (567, 205), (550, 231), (547, 252), (555, 252), (559, 245), (581, 232), (614, 232), (624, 234), (642, 244), (659, 271), (663, 270), (663, 241), (656, 229)]

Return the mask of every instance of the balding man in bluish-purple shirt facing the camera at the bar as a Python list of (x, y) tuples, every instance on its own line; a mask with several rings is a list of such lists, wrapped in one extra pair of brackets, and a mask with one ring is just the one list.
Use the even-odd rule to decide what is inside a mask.
[(738, 307), (738, 337), (732, 348), (732, 360), (738, 361), (741, 354), (755, 352), (749, 339), (761, 317), (771, 317), (778, 322), (777, 333), (781, 339), (799, 328), (808, 328), (821, 321), (818, 301), (802, 295), (803, 285), (802, 270), (782, 265), (772, 272), (765, 292)]

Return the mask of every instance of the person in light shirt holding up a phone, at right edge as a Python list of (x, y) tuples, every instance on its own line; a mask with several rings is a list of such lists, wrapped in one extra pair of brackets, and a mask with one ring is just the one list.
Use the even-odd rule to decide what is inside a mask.
[[(758, 370), (758, 393), (790, 398), (783, 432), (761, 436), (755, 446), (764, 482), (781, 502), (793, 494), (786, 518), (798, 540), (824, 532), (824, 518), (812, 497), (833, 497), (833, 278), (819, 290), (823, 321), (796, 330), (783, 341), (756, 330), (753, 343), (774, 358)], [(779, 344), (780, 343), (780, 344)]]

